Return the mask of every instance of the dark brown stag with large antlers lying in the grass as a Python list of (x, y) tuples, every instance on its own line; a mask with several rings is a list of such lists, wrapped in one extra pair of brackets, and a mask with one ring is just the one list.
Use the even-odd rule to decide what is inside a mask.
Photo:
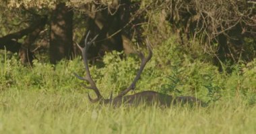
[(130, 90), (134, 90), (135, 84), (139, 80), (139, 76), (140, 76), (141, 72), (143, 71), (143, 68), (146, 66), (146, 63), (152, 58), (152, 48), (151, 48), (150, 42), (148, 40), (146, 40), (147, 41), (146, 45), (148, 47), (149, 54), (147, 57), (145, 57), (141, 52), (139, 52), (139, 56), (141, 57), (141, 65), (140, 65), (140, 68), (137, 71), (137, 74), (136, 74), (133, 82), (131, 83), (131, 85), (127, 89), (120, 92), (115, 98), (112, 97), (112, 93), (110, 94), (110, 98), (107, 98), (107, 99), (103, 98), (103, 96), (100, 94), (100, 91), (98, 90), (94, 80), (92, 80), (92, 76), (90, 75), (90, 70), (88, 67), (87, 51), (88, 51), (88, 48), (90, 47), (90, 45), (92, 45), (93, 42), (97, 38), (97, 36), (96, 36), (90, 42), (88, 42), (89, 34), (90, 34), (90, 31), (88, 32), (88, 34), (86, 36), (84, 48), (82, 48), (81, 46), (79, 46), (79, 44), (77, 44), (78, 48), (82, 51), (84, 66), (86, 68), (86, 76), (81, 77), (75, 73), (74, 74), (80, 80), (85, 80), (85, 81), (89, 82), (90, 86), (85, 86), (85, 85), (84, 86), (88, 89), (94, 90), (94, 92), (96, 93), (97, 98), (95, 98), (95, 99), (92, 99), (90, 97), (90, 95), (88, 94), (88, 98), (89, 98), (90, 102), (110, 104), (110, 105), (113, 105), (114, 107), (118, 107), (122, 104), (134, 105), (134, 106), (137, 106), (140, 104), (146, 104), (146, 105), (156, 104), (156, 105), (159, 105), (162, 107), (169, 107), (170, 105), (186, 104), (186, 103), (193, 104), (193, 105), (195, 105), (195, 104), (201, 105), (201, 101), (193, 96), (173, 97), (173, 96), (170, 96), (167, 94), (162, 94), (160, 92), (154, 92), (152, 90), (146, 90), (143, 92), (138, 92), (135, 94), (125, 96), (125, 94), (127, 94), (127, 92), (129, 92)]

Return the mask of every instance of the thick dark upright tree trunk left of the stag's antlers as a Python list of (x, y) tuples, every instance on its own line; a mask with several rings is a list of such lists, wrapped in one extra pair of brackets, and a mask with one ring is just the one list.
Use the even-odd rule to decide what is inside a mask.
[(50, 60), (56, 64), (73, 54), (73, 11), (59, 3), (53, 10), (50, 25)]

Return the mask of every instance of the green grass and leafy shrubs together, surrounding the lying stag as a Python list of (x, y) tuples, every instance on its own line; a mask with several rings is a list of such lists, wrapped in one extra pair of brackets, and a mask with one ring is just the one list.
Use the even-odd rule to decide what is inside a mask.
[[(94, 92), (73, 76), (85, 72), (81, 57), (56, 65), (38, 59), (24, 67), (18, 56), (1, 52), (0, 133), (255, 133), (256, 60), (223, 64), (232, 71), (220, 72), (210, 58), (184, 52), (175, 40), (154, 48), (134, 92), (196, 96), (207, 107), (92, 104), (87, 94)], [(106, 54), (90, 66), (105, 97), (126, 88), (139, 68), (137, 56), (121, 55)]]

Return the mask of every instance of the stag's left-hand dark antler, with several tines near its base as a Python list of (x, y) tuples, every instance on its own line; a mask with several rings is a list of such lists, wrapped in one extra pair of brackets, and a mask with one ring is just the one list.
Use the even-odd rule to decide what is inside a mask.
[(96, 93), (96, 95), (97, 95), (97, 98), (95, 98), (95, 99), (92, 99), (91, 97), (90, 97), (90, 95), (88, 94), (88, 98), (89, 98), (89, 100), (92, 102), (92, 103), (95, 103), (95, 102), (98, 102), (98, 100), (101, 100), (103, 97), (102, 97), (102, 95), (100, 94), (100, 91), (98, 90), (98, 88), (97, 88), (97, 86), (96, 86), (96, 84), (95, 84), (95, 82), (94, 82), (94, 80), (92, 80), (92, 76), (91, 76), (91, 74), (90, 74), (90, 70), (89, 70), (89, 66), (88, 66), (88, 59), (87, 59), (87, 52), (88, 52), (88, 48), (92, 45), (92, 43), (96, 40), (96, 38), (98, 37), (98, 35), (97, 36), (95, 36), (90, 42), (88, 42), (88, 37), (89, 37), (89, 35), (90, 35), (90, 31), (88, 31), (88, 34), (86, 35), (86, 40), (85, 40), (85, 42), (84, 42), (84, 48), (82, 47), (82, 46), (79, 46), (79, 44), (77, 44), (77, 46), (78, 46), (78, 48), (81, 50), (81, 52), (82, 52), (82, 57), (83, 57), (83, 60), (84, 60), (84, 66), (85, 66), (85, 68), (86, 68), (86, 76), (85, 77), (81, 77), (81, 76), (78, 76), (77, 74), (75, 74), (75, 76), (77, 77), (77, 78), (79, 78), (80, 80), (86, 80), (86, 81), (88, 81), (89, 83), (90, 83), (90, 86), (88, 87), (88, 86), (85, 86), (86, 88), (88, 88), (88, 89), (92, 89), (92, 90), (94, 90), (94, 92)]

